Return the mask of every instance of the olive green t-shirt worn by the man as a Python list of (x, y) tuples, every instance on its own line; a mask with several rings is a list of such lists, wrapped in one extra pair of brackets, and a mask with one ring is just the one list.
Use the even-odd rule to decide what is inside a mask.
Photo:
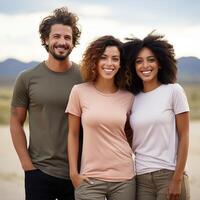
[(29, 113), (29, 154), (33, 165), (51, 176), (69, 178), (65, 109), (73, 85), (81, 83), (79, 67), (51, 71), (45, 62), (23, 71), (16, 80), (12, 106)]

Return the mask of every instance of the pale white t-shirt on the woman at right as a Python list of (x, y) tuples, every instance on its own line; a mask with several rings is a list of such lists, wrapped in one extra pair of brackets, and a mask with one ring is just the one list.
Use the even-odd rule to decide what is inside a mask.
[(175, 169), (178, 147), (175, 115), (188, 111), (185, 92), (177, 83), (163, 84), (135, 96), (130, 124), (137, 174)]

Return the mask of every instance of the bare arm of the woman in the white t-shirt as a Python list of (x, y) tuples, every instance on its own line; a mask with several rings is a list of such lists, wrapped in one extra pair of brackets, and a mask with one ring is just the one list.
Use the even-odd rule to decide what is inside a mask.
[[(170, 196), (181, 192), (181, 182), (187, 161), (189, 148), (189, 113), (184, 112), (176, 115), (176, 128), (178, 132), (178, 152), (176, 169), (169, 187)], [(173, 199), (173, 197), (171, 197)]]

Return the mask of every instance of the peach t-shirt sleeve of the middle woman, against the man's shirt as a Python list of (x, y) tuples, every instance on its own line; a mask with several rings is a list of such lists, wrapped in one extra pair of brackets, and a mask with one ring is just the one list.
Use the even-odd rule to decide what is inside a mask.
[(73, 86), (71, 90), (69, 101), (68, 101), (65, 112), (76, 115), (78, 117), (81, 116), (80, 97), (79, 97), (79, 90), (77, 86)]

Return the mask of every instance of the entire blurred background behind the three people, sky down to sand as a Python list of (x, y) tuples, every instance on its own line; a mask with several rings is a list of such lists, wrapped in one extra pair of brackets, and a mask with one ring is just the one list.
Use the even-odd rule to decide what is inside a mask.
[[(165, 35), (178, 60), (178, 82), (190, 105), (190, 149), (187, 171), (191, 200), (200, 199), (200, 1), (199, 0), (0, 0), (0, 199), (24, 199), (24, 173), (9, 131), (10, 100), (20, 71), (47, 57), (38, 26), (55, 8), (67, 6), (79, 17), (77, 63), (93, 39), (102, 35), (144, 38)], [(28, 137), (28, 126), (25, 126)]]

